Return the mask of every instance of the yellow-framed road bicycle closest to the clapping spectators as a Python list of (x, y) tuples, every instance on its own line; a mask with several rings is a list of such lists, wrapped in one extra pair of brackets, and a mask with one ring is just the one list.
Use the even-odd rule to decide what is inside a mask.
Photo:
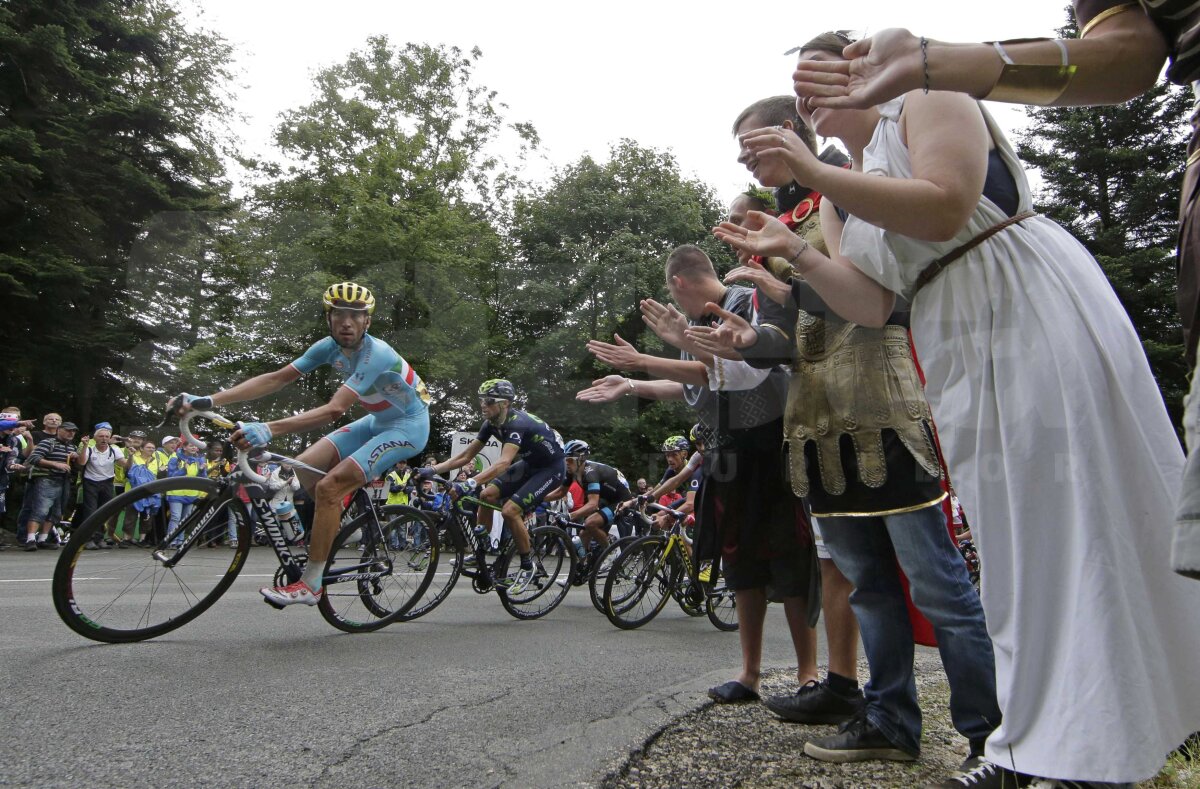
[(608, 570), (604, 589), (604, 613), (622, 630), (635, 630), (659, 615), (673, 597), (689, 616), (708, 614), (722, 631), (737, 630), (734, 594), (721, 582), (716, 562), (706, 577), (694, 572), (683, 523), (688, 513), (647, 505), (647, 510), (672, 518), (666, 535), (649, 535), (628, 546)]

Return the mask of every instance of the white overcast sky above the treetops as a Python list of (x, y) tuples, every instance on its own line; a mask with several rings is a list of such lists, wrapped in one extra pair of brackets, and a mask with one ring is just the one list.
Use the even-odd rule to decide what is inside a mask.
[[(190, 16), (236, 49), (244, 151), (270, 153), (278, 114), (308, 102), (312, 76), (367, 36), (479, 47), (476, 82), (497, 91), (508, 118), (541, 135), (524, 175), (546, 177), (584, 152), (606, 157), (628, 137), (670, 149), (685, 174), (722, 200), (745, 188), (730, 125), (749, 103), (791, 92), (787, 49), (830, 29), (870, 34), (907, 26), (946, 41), (1052, 35), (1063, 2), (964, 0), (886, 2), (479, 2), (455, 0), (197, 0)], [(790, 18), (782, 8), (794, 8)], [(992, 106), (1009, 130), (1024, 110)]]

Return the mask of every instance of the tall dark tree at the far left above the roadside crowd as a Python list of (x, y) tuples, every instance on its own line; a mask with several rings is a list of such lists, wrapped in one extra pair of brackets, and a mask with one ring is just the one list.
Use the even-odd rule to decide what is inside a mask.
[(226, 205), (229, 53), (166, 0), (0, 6), (6, 399), (137, 418), (122, 362), (155, 329), (130, 254), (152, 217)]

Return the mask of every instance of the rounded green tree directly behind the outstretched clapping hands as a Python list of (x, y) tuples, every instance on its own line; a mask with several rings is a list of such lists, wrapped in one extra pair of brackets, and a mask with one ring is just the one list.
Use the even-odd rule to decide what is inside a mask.
[(656, 456), (665, 435), (686, 432), (695, 416), (682, 403), (577, 404), (578, 389), (613, 372), (584, 344), (619, 333), (674, 356), (646, 330), (638, 303), (667, 300), (662, 270), (677, 246), (698, 243), (719, 266), (731, 265), (709, 233), (722, 206), (707, 185), (679, 173), (671, 153), (626, 139), (605, 162), (584, 156), (563, 168), (517, 199), (514, 213), (521, 284), (511, 289), (504, 323), (521, 349), (498, 372), (564, 438), (584, 438), (596, 457), (646, 474), (647, 456)]

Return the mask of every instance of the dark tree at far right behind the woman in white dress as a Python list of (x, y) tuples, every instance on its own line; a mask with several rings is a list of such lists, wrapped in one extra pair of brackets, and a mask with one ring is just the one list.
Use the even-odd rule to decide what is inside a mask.
[[(1074, 20), (1060, 29), (1074, 37)], [(1016, 152), (1040, 170), (1037, 209), (1087, 247), (1141, 336), (1178, 427), (1187, 366), (1175, 237), (1192, 91), (1159, 82), (1109, 107), (1030, 108)]]

